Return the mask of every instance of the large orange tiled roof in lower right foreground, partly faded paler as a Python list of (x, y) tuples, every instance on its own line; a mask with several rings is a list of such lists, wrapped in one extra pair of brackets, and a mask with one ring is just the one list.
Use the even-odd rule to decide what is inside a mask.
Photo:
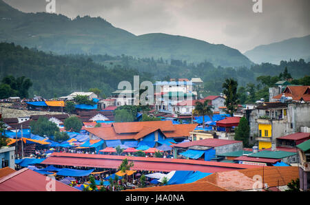
[(211, 174), (197, 182), (211, 182), (216, 186), (230, 191), (251, 190), (254, 176), (264, 176), (263, 182), (271, 186), (285, 186), (291, 180), (299, 178), (297, 166), (264, 166), (254, 169), (240, 169), (238, 171), (218, 172)]

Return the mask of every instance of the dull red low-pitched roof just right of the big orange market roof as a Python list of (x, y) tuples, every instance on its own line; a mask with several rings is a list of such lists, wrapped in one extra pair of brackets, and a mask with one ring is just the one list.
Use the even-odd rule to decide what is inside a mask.
[(192, 147), (192, 146), (205, 146), (205, 147), (219, 147), (227, 144), (234, 144), (242, 141), (237, 141), (237, 140), (222, 140), (222, 139), (214, 139), (214, 138), (209, 138), (205, 140), (196, 140), (193, 142), (183, 142), (180, 144), (173, 144), (174, 147)]

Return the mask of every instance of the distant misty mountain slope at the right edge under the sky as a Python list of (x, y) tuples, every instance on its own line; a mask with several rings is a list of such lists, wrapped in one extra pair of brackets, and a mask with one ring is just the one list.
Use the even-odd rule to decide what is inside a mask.
[(280, 61), (299, 61), (300, 58), (309, 62), (310, 35), (269, 45), (259, 45), (253, 50), (245, 52), (245, 56), (258, 64), (269, 62), (280, 65)]

